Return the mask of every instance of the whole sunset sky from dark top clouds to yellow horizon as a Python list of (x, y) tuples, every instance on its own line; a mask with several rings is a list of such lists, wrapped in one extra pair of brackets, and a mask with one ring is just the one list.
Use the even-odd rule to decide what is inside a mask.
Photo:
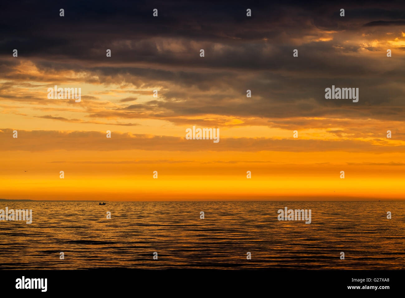
[(403, 2), (2, 6), (0, 198), (404, 198)]

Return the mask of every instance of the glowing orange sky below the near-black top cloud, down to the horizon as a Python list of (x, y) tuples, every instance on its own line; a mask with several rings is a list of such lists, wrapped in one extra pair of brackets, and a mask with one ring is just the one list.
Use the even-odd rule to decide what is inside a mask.
[[(260, 49), (258, 61), (265, 64), (274, 52), (283, 59), (271, 71), (210, 62), (232, 59), (226, 53), (235, 54), (243, 39), (123, 38), (109, 45), (113, 53), (149, 44), (156, 50), (155, 60), (126, 63), (105, 53), (92, 61), (28, 57), (22, 50), (18, 57), (3, 55), (0, 198), (403, 199), (403, 28), (304, 27), (299, 36), (275, 37), (283, 43), (250, 41)], [(277, 51), (281, 44), (288, 53)], [(210, 49), (203, 61), (196, 60), (201, 47)], [(166, 63), (162, 53), (171, 63), (198, 62)], [(317, 57), (320, 65), (305, 66)], [(333, 84), (359, 86), (359, 103), (324, 99), (324, 88)], [(80, 87), (81, 102), (47, 99), (54, 85)], [(193, 125), (219, 128), (219, 143), (185, 139)]]

